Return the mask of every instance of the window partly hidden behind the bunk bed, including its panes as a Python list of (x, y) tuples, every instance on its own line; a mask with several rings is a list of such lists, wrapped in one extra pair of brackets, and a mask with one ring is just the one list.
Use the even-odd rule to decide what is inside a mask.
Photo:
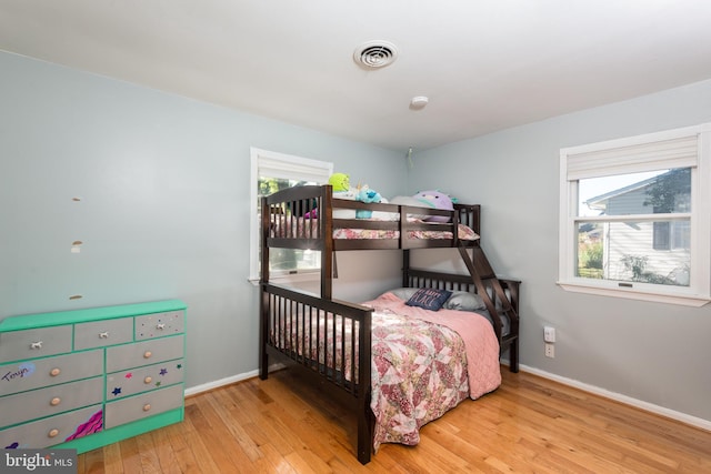
[[(250, 204), (254, 214), (250, 223), (250, 281), (261, 275), (260, 201), (284, 188), (303, 184), (324, 184), (333, 173), (333, 163), (251, 149)], [(320, 268), (319, 252), (309, 250), (278, 249), (269, 253), (269, 271), (273, 279), (299, 278), (314, 274)]]

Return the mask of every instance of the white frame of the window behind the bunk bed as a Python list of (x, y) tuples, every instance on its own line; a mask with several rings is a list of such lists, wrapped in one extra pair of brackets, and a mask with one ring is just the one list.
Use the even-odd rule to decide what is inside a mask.
[[(250, 148), (250, 263), (249, 281), (257, 284), (261, 279), (260, 261), (260, 225), (259, 195), (257, 183), (260, 170), (271, 170), (277, 175), (270, 178), (282, 178), (292, 180), (313, 181), (326, 184), (333, 174), (333, 163), (310, 158), (302, 158), (292, 154), (279, 153), (276, 151)], [(314, 281), (320, 278), (320, 271), (307, 271), (299, 273), (273, 274), (270, 272), (270, 280), (282, 283), (294, 283), (303, 281)]]

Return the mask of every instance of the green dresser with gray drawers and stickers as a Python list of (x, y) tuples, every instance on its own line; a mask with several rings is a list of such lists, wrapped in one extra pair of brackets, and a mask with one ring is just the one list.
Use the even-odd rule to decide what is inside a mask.
[(0, 322), (0, 447), (78, 453), (181, 422), (179, 300)]

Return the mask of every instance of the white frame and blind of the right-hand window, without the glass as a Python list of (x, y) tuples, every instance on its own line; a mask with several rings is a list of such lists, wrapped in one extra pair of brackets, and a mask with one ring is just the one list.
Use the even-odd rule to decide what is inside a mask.
[[(635, 163), (633, 158), (621, 157), (625, 150), (644, 147), (661, 147), (661, 142), (697, 138), (695, 160), (691, 168), (691, 212), (680, 215), (690, 218), (690, 259), (692, 262), (689, 286), (634, 282), (633, 284), (611, 280), (589, 279), (575, 275), (578, 263), (579, 221), (615, 220), (634, 221), (635, 215), (605, 215), (601, 218), (579, 216), (578, 181), (585, 178), (625, 174), (635, 171), (657, 171), (660, 163)], [(693, 140), (691, 140), (693, 141)], [(584, 157), (614, 157), (603, 161), (584, 161)], [(574, 160), (583, 157), (582, 163)], [(660, 160), (664, 161), (664, 160)], [(570, 167), (572, 162), (572, 167)], [(669, 167), (669, 163), (665, 163)], [(587, 168), (588, 167), (588, 168)], [(625, 167), (628, 167), (625, 169)], [(571, 171), (572, 170), (572, 171)], [(621, 171), (622, 170), (622, 171)], [(588, 175), (589, 174), (589, 175)], [(660, 216), (661, 214), (657, 214)], [(650, 220), (643, 215), (642, 220)], [(673, 226), (673, 220), (669, 221)], [(669, 235), (670, 245), (673, 245)], [(559, 280), (565, 291), (654, 301), (688, 306), (702, 306), (711, 301), (711, 123), (648, 133), (618, 140), (590, 143), (560, 150), (560, 211), (559, 211)]]

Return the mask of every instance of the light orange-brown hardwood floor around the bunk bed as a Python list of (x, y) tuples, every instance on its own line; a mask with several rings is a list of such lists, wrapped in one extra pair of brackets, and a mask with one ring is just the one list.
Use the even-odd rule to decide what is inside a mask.
[(79, 456), (79, 473), (711, 473), (711, 433), (538, 376), (511, 374), (363, 466), (354, 417), (294, 379), (186, 401), (186, 421)]

